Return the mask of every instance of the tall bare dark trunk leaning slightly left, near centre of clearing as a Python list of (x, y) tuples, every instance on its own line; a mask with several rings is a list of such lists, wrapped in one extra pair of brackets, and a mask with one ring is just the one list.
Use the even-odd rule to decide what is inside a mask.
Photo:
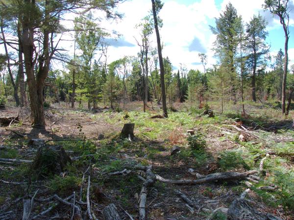
[(159, 66), (160, 66), (162, 110), (163, 110), (163, 116), (167, 118), (168, 117), (168, 110), (167, 110), (167, 98), (166, 98), (165, 83), (164, 83), (164, 66), (163, 66), (163, 59), (162, 59), (160, 35), (159, 35), (159, 30), (158, 30), (157, 15), (156, 15), (156, 10), (155, 10), (155, 0), (151, 0), (151, 2), (152, 2), (152, 12), (153, 12), (153, 19), (154, 19), (154, 27), (155, 27), (155, 32), (156, 32), (156, 40), (157, 40), (158, 59), (159, 59)]

